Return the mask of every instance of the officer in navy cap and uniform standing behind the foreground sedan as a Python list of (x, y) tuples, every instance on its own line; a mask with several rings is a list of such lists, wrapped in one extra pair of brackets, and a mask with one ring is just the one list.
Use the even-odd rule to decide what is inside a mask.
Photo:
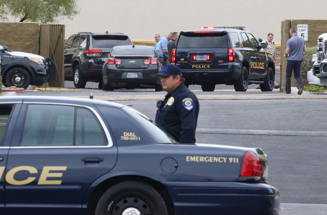
[(178, 66), (167, 64), (158, 75), (161, 76), (161, 84), (167, 95), (157, 103), (155, 122), (178, 142), (195, 143), (198, 98), (185, 86)]

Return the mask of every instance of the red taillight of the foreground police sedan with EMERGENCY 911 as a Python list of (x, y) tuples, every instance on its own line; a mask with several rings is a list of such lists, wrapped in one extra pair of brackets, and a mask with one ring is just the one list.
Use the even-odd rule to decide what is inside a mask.
[(253, 152), (246, 152), (241, 167), (241, 177), (260, 177), (262, 178), (261, 160)]

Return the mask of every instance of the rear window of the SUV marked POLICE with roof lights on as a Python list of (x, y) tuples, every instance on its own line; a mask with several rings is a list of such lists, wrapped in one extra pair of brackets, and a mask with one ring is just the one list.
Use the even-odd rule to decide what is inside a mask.
[(177, 48), (227, 48), (227, 35), (181, 35)]

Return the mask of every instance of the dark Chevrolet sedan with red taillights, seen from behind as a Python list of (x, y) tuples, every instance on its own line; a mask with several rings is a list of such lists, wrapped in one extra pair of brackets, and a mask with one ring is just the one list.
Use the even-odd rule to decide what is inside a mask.
[(163, 63), (157, 51), (148, 45), (120, 45), (112, 48), (103, 64), (103, 90), (113, 88), (155, 88), (163, 90), (160, 77)]

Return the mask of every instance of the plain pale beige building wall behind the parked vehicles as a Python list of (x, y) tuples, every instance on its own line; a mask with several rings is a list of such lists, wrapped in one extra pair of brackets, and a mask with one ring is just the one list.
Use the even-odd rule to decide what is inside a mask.
[(125, 33), (132, 40), (154, 40), (156, 33), (164, 36), (200, 26), (245, 26), (256, 38), (265, 40), (267, 33), (273, 33), (277, 44), (281, 21), (326, 19), (327, 9), (324, 0), (78, 0), (78, 5), (81, 12), (74, 20), (58, 23), (65, 25), (65, 36), (108, 30)]

